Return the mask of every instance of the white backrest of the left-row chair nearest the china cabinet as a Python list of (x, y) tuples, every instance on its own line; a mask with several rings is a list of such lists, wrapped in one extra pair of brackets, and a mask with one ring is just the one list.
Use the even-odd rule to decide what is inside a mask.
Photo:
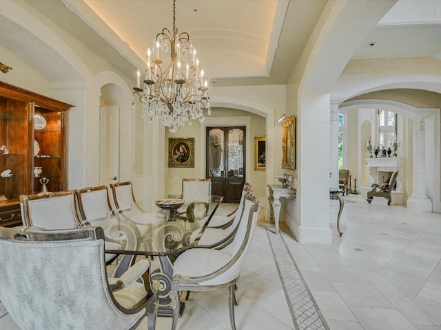
[(45, 229), (78, 228), (82, 222), (73, 190), (21, 195), (23, 224)]

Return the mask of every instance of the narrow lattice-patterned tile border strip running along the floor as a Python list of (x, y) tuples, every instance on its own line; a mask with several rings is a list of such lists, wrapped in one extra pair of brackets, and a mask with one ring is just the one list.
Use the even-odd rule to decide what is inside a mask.
[(296, 330), (329, 330), (281, 234), (267, 230), (269, 245)]

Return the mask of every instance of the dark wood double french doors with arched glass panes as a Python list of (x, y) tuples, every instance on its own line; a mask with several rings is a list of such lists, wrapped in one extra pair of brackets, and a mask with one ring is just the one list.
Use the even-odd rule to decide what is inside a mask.
[(245, 127), (207, 127), (206, 177), (212, 179), (212, 195), (236, 203), (245, 184)]

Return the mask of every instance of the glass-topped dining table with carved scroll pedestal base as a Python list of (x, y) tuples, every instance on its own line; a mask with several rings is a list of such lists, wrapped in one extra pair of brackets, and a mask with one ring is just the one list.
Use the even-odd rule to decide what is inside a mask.
[[(152, 257), (155, 269), (150, 270), (150, 283), (156, 285), (159, 296), (158, 316), (172, 317), (173, 299), (178, 294), (171, 288), (173, 263), (185, 250), (196, 247), (210, 219), (223, 197), (212, 195), (206, 203), (186, 203), (183, 199), (156, 200), (156, 212), (145, 212), (151, 206), (145, 200), (107, 214), (105, 219), (94, 220), (93, 225), (107, 229), (107, 236), (125, 236), (127, 242), (121, 250), (105, 248), (109, 254), (132, 254)], [(154, 258), (153, 258), (154, 257)], [(156, 283), (156, 284), (155, 284)], [(181, 304), (181, 312), (185, 304)]]

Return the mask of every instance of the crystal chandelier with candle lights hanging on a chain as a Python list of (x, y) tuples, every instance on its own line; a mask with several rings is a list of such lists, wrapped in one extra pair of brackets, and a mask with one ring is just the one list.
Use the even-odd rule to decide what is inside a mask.
[[(173, 31), (163, 28), (156, 35), (153, 49), (147, 50), (145, 79), (141, 83), (138, 70), (133, 96), (139, 96), (141, 115), (161, 120), (170, 132), (192, 120), (205, 120), (204, 109), (211, 114), (208, 83), (204, 80), (203, 69), (199, 70), (196, 48), (187, 32), (178, 34), (175, 23), (176, 0), (173, 0)], [(133, 100), (133, 107), (135, 102)]]

